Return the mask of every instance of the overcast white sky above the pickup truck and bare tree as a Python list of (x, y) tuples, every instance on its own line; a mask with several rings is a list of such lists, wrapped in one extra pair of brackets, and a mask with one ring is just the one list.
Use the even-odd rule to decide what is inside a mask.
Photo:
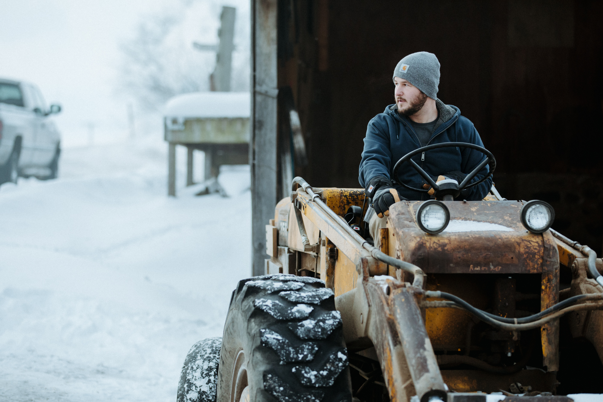
[[(131, 101), (119, 91), (121, 44), (144, 19), (178, 8), (194, 16), (183, 21), (186, 46), (213, 42), (222, 5), (238, 6), (238, 24), (248, 18), (247, 0), (0, 0), (0, 77), (31, 81), (49, 104), (63, 106), (56, 121), (64, 147), (86, 144), (90, 124), (96, 143), (119, 141), (127, 137)], [(137, 135), (160, 135), (160, 121), (150, 133), (154, 126), (145, 128), (134, 109)]]

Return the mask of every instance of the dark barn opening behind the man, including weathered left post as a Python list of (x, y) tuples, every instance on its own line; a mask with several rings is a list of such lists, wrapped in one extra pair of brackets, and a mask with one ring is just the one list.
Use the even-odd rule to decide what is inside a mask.
[[(440, 60), (438, 98), (459, 107), (496, 156), (502, 196), (551, 203), (553, 228), (601, 255), (603, 2), (254, 0), (253, 7), (255, 273), (264, 225), (289, 190), (288, 110), (298, 112), (308, 159), (290, 158), (294, 174), (315, 187), (358, 188), (367, 123), (393, 103), (394, 66), (415, 51)], [(270, 185), (276, 190), (267, 195)]]

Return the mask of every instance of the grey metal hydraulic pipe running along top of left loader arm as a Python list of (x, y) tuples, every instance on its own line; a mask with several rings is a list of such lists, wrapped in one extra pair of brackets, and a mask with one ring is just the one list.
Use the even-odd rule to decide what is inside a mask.
[(362, 238), (358, 233), (356, 233), (352, 228), (350, 228), (350, 225), (348, 225), (342, 217), (333, 212), (333, 210), (330, 209), (329, 206), (326, 205), (326, 203), (324, 203), (323, 200), (320, 199), (320, 196), (314, 193), (312, 187), (308, 184), (308, 182), (306, 182), (306, 180), (302, 179), (299, 176), (293, 179), (292, 190), (297, 190), (297, 186), (303, 188), (303, 190), (311, 197), (312, 201), (315, 202), (316, 205), (318, 205), (327, 215), (329, 215), (329, 217), (334, 219), (336, 222), (342, 222), (341, 226), (343, 227), (344, 231), (346, 231), (347, 234), (352, 236), (352, 238), (357, 241), (358, 244), (361, 245), (361, 247), (366, 249), (371, 255), (371, 257), (373, 257), (375, 260), (381, 261), (382, 263), (412, 273), (412, 275), (414, 275), (414, 281), (412, 281), (412, 286), (418, 287), (419, 289), (423, 289), (423, 277), (425, 276), (425, 273), (422, 269), (415, 266), (414, 264), (390, 257), (381, 250), (377, 249), (377, 247), (371, 246), (368, 241), (364, 240), (364, 238)]

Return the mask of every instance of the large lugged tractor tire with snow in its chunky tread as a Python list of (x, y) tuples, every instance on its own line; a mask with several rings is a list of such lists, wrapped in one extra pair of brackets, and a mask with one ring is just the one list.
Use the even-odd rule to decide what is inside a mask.
[(349, 402), (341, 314), (320, 279), (264, 275), (230, 301), (218, 370), (220, 402)]

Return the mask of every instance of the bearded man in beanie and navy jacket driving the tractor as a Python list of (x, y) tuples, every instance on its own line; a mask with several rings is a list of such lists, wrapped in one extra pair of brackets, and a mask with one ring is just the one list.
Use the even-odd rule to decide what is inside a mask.
[[(394, 69), (395, 104), (368, 122), (367, 136), (359, 168), (359, 182), (372, 200), (375, 214), (370, 219), (371, 237), (385, 228), (390, 206), (400, 200), (425, 200), (434, 189), (412, 168), (403, 165), (393, 177), (394, 164), (420, 147), (445, 142), (468, 142), (483, 147), (473, 123), (456, 106), (437, 98), (440, 62), (435, 54), (417, 52), (404, 57)], [(471, 148), (446, 147), (426, 150), (416, 155), (415, 163), (430, 174), (434, 182), (463, 179), (485, 158)], [(473, 177), (476, 182), (488, 174), (488, 165)], [(418, 193), (402, 185), (429, 189)], [(481, 200), (490, 191), (492, 178), (463, 190), (457, 199)]]

